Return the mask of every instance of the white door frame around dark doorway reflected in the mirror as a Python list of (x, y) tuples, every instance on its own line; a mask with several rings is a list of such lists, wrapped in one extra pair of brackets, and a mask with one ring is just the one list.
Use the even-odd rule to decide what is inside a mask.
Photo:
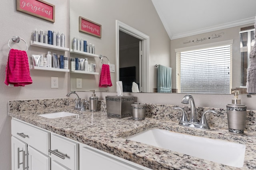
[[(148, 84), (149, 84), (149, 75), (148, 75), (148, 63), (149, 63), (149, 36), (126, 25), (118, 20), (116, 20), (116, 80), (120, 80), (120, 33), (123, 35), (130, 35), (133, 38), (136, 38), (136, 41), (141, 41), (139, 43), (139, 80), (137, 78), (136, 81), (139, 82), (139, 90), (140, 92), (149, 92)], [(121, 35), (121, 36), (122, 36)], [(122, 62), (122, 61), (121, 61)], [(130, 68), (132, 69), (132, 68)], [(135, 69), (136, 70), (136, 69)], [(122, 71), (122, 70), (121, 70)], [(136, 73), (135, 73), (136, 74)], [(135, 81), (135, 82), (136, 82)], [(130, 87), (129, 87), (130, 88)]]

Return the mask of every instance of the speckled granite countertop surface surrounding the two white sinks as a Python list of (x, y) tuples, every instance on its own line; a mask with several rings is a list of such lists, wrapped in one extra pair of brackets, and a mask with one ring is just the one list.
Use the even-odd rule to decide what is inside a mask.
[[(52, 113), (56, 111), (79, 113), (80, 116), (55, 119), (38, 116), (38, 114), (41, 113)], [(182, 127), (178, 125), (178, 122), (163, 121), (147, 117), (144, 121), (134, 121), (132, 117), (116, 119), (107, 117), (105, 112), (92, 113), (89, 111), (76, 111), (70, 107), (62, 109), (42, 109), (40, 111), (15, 111), (9, 112), (9, 115), (151, 169), (256, 169), (255, 132), (248, 133), (245, 131), (243, 135), (235, 135), (229, 133), (227, 129), (212, 128), (210, 130), (198, 130)], [(126, 140), (126, 137), (150, 128), (166, 129), (178, 133), (246, 144), (244, 166), (243, 168), (234, 168), (186, 154)]]

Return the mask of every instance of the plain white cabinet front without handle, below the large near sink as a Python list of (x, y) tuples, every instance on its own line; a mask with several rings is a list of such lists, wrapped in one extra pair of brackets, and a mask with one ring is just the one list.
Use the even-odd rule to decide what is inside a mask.
[[(92, 147), (80, 147), (80, 170), (149, 170)], [(129, 163), (128, 163), (129, 162)]]

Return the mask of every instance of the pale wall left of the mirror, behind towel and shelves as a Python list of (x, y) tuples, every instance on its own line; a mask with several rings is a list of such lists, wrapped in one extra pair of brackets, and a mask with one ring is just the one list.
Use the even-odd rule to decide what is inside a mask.
[[(4, 2), (3, 2), (4, 1)], [(0, 10), (0, 170), (11, 169), (11, 117), (8, 116), (8, 100), (18, 99), (41, 99), (41, 98), (64, 98), (69, 90), (69, 74), (59, 72), (48, 72), (31, 70), (30, 74), (33, 83), (25, 87), (9, 87), (4, 84), (5, 68), (8, 60), (9, 47), (8, 40), (12, 36), (23, 38), (30, 44), (31, 34), (37, 30), (60, 30), (66, 35), (66, 45), (69, 45), (68, 26), (68, 1), (67, 0), (47, 0), (55, 5), (55, 22), (49, 22), (35, 16), (16, 11), (16, 0), (1, 1)], [(12, 41), (12, 40), (11, 40)], [(14, 49), (25, 50), (25, 44), (20, 41), (17, 45), (12, 45)], [(29, 62), (32, 54), (46, 54), (48, 49), (30, 46), (27, 54)], [(52, 50), (51, 50), (52, 51)], [(52, 51), (60, 53), (59, 51)], [(63, 53), (64, 54), (64, 53)], [(65, 53), (69, 56), (69, 53)], [(59, 88), (51, 89), (51, 76), (59, 78)]]

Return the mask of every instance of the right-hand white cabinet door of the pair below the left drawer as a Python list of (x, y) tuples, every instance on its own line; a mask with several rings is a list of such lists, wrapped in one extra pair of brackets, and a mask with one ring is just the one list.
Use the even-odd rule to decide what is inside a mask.
[(50, 157), (28, 146), (29, 170), (50, 170)]

